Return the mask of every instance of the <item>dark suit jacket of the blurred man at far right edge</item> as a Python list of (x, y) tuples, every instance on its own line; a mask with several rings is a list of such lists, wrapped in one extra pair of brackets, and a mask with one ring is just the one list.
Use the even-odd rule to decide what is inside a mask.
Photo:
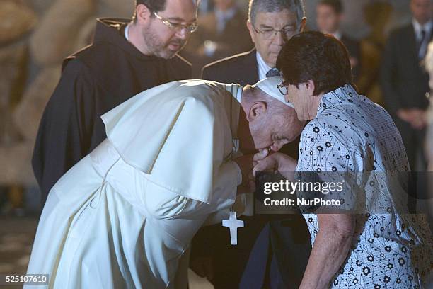
[[(432, 35), (427, 36), (431, 40)], [(393, 30), (383, 52), (381, 86), (388, 111), (396, 116), (400, 108), (428, 106), (429, 76), (420, 66), (412, 23)]]

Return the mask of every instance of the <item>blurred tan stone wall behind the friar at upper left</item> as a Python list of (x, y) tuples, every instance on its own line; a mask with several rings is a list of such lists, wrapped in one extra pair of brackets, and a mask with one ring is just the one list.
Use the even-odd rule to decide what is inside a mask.
[(133, 10), (134, 0), (0, 1), (0, 186), (35, 186), (30, 159), (62, 60), (90, 44), (96, 18)]

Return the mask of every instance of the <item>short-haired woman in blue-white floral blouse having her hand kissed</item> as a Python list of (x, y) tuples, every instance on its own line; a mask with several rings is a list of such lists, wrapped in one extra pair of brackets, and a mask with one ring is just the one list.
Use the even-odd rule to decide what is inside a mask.
[(298, 162), (270, 154), (254, 171), (291, 171), (285, 175), (292, 180), (294, 171), (367, 176), (348, 190), (365, 196), (363, 214), (304, 214), (313, 249), (301, 288), (420, 288), (432, 270), (431, 232), (422, 216), (405, 214), (391, 196), (391, 178), (379, 176), (410, 171), (390, 115), (357, 94), (347, 50), (330, 35), (294, 36), (277, 67), (286, 101), (300, 120), (311, 121), (301, 133)]

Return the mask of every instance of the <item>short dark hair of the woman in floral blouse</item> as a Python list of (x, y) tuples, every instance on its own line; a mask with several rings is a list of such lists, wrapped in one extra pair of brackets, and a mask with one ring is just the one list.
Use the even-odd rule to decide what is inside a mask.
[[(352, 84), (349, 53), (333, 35), (309, 31), (294, 35), (277, 57), (284, 84), (314, 82), (314, 95)], [(353, 84), (352, 84), (353, 85)]]

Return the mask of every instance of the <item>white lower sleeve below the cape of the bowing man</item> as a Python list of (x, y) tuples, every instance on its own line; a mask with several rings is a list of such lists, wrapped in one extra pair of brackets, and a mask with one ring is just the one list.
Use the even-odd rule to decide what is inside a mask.
[(212, 200), (209, 204), (179, 196), (178, 193), (152, 182), (147, 185), (143, 202), (146, 210), (157, 219), (203, 217), (230, 208), (235, 202), (237, 186), (241, 182), (241, 170), (235, 162), (229, 161), (221, 164), (217, 176), (214, 177)]

